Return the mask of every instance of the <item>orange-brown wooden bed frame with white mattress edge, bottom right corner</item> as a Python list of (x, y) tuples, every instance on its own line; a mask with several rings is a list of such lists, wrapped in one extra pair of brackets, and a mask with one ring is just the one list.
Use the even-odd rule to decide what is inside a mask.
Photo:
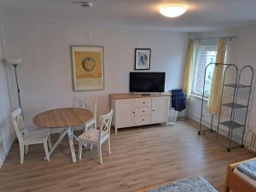
[(228, 166), (224, 192), (230, 192), (230, 190), (233, 192), (256, 192), (256, 180), (253, 180), (251, 177), (248, 177), (237, 169), (237, 166), (251, 160), (256, 160), (256, 158), (237, 162)]

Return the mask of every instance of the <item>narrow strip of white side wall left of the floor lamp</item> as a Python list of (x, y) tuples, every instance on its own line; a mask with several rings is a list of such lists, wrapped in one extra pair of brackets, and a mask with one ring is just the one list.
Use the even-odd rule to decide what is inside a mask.
[[(1, 38), (0, 44), (3, 44)], [(15, 138), (15, 132), (9, 120), (11, 105), (9, 100), (7, 73), (10, 68), (5, 66), (3, 62), (3, 55), (3, 47), (0, 46), (0, 168), (3, 165), (3, 161), (9, 153), (9, 149), (11, 148)]]

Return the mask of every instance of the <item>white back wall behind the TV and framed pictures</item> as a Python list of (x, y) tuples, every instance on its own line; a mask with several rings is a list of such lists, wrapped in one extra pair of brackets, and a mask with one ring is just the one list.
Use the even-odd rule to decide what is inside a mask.
[[(188, 33), (40, 23), (8, 23), (3, 29), (7, 55), (23, 59), (19, 81), (26, 122), (44, 110), (70, 106), (73, 96), (100, 96), (99, 113), (107, 112), (108, 95), (129, 90), (135, 48), (152, 49), (150, 71), (166, 72), (166, 90), (182, 84)], [(104, 46), (104, 90), (73, 91), (71, 45)]]

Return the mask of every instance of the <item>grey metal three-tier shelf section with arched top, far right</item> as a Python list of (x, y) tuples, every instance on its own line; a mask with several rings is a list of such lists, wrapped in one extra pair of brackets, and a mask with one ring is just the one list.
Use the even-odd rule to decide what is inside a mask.
[[(245, 77), (244, 72), (249, 70), (250, 73), (247, 74)], [(245, 66), (242, 67), (239, 73), (238, 80), (236, 80), (235, 84), (225, 84), (225, 73), (224, 73), (224, 81), (223, 81), (223, 88), (221, 94), (221, 102), (220, 102), (220, 110), (218, 114), (218, 126), (217, 126), (217, 135), (216, 140), (218, 141), (219, 135), (219, 126), (223, 125), (224, 127), (228, 128), (228, 144), (227, 150), (230, 152), (231, 149), (234, 148), (243, 148), (243, 138), (245, 133), (245, 128), (247, 124), (247, 113), (249, 108), (249, 102), (252, 92), (252, 84), (253, 84), (253, 67)], [(236, 77), (237, 79), (237, 77)], [(247, 83), (243, 84), (241, 81), (243, 79), (247, 79)], [(233, 89), (234, 96), (232, 98), (232, 102), (224, 102), (224, 89), (228, 87)], [(242, 93), (242, 94), (240, 94)], [(229, 120), (222, 120), (222, 109), (229, 108), (230, 109), (230, 119)], [(241, 135), (241, 143), (231, 146), (231, 143), (237, 143), (237, 141), (233, 141), (233, 132), (236, 129), (241, 129), (239, 132)], [(237, 136), (236, 136), (237, 137)]]

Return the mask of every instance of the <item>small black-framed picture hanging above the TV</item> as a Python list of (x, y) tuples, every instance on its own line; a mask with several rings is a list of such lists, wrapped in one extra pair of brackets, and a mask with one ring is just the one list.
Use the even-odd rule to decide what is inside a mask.
[(151, 49), (135, 49), (135, 70), (150, 69)]

